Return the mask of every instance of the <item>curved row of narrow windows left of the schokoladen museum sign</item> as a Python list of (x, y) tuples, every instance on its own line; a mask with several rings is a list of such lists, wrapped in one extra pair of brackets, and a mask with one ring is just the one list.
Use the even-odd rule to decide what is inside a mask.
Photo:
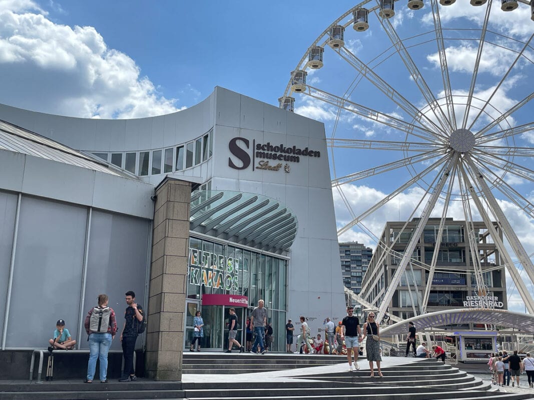
[(152, 151), (93, 153), (139, 177), (182, 171), (207, 161), (213, 154), (213, 130), (185, 145)]

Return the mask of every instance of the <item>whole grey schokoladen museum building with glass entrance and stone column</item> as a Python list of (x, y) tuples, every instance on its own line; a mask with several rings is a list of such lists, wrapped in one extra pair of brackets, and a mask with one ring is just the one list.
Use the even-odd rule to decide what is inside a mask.
[[(179, 379), (193, 316), (227, 346), (228, 309), (265, 300), (285, 324), (344, 315), (324, 125), (221, 87), (150, 118), (71, 118), (0, 106), (2, 350), (44, 348), (62, 318), (77, 348), (97, 295), (122, 329), (147, 310), (145, 373)], [(120, 349), (115, 340), (112, 349)], [(0, 378), (5, 379), (5, 378)]]

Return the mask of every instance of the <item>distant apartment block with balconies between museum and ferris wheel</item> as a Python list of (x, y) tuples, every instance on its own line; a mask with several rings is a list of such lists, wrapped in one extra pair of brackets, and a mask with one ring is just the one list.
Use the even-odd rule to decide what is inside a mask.
[(373, 257), (373, 249), (358, 242), (339, 244), (343, 285), (358, 294), (362, 291), (362, 279)]

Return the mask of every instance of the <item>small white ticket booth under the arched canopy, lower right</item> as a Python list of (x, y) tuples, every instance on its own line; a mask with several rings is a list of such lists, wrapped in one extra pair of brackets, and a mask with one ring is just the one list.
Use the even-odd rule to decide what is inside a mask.
[(457, 337), (459, 361), (488, 362), (491, 353), (497, 352), (496, 331), (459, 331), (454, 334)]

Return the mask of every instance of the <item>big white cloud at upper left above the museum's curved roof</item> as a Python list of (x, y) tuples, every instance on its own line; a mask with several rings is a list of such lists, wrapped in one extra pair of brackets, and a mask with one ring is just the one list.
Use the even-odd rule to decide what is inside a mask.
[(54, 114), (133, 118), (178, 110), (95, 28), (54, 23), (29, 0), (0, 0), (0, 86), (0, 102)]

